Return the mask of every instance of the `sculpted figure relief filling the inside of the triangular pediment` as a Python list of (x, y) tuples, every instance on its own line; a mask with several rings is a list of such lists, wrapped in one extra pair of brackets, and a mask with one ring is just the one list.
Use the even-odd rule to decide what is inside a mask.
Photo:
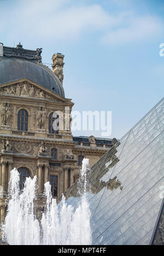
[(54, 96), (28, 82), (22, 82), (17, 83), (16, 85), (5, 86), (4, 88), (0, 89), (0, 92), (3, 95), (42, 98), (45, 100), (57, 102)]

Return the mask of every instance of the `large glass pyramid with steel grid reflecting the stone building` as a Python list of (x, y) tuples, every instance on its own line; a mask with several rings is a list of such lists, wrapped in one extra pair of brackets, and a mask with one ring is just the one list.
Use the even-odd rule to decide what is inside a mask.
[(87, 172), (93, 245), (164, 245), (163, 185), (164, 98)]

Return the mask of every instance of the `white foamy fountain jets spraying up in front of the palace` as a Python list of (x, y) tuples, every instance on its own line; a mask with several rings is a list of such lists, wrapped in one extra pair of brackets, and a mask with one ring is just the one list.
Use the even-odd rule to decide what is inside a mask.
[(46, 209), (41, 223), (34, 215), (37, 177), (26, 178), (22, 193), (19, 172), (11, 171), (7, 216), (2, 226), (3, 241), (9, 245), (91, 245), (90, 209), (86, 199), (86, 171), (89, 160), (83, 160), (79, 185), (80, 202), (77, 208), (67, 205), (62, 197), (60, 205), (52, 199), (51, 185), (45, 183)]

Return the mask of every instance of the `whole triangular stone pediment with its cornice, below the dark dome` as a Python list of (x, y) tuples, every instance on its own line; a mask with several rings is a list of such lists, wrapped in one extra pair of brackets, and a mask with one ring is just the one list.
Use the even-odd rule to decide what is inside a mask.
[(57, 103), (71, 103), (71, 100), (62, 98), (54, 92), (45, 89), (28, 79), (23, 79), (17, 83), (9, 83), (0, 87), (0, 95), (34, 98)]

